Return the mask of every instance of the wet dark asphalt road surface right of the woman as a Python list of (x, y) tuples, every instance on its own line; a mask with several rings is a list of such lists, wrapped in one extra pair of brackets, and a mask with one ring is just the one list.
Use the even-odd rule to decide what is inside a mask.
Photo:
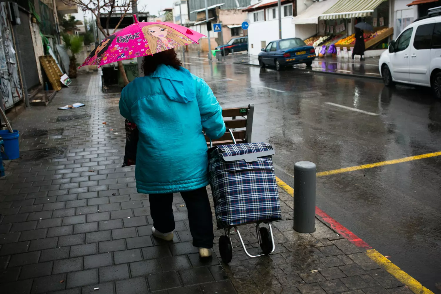
[[(300, 160), (329, 171), (441, 151), (441, 100), (428, 89), (388, 89), (381, 81), (299, 70), (210, 66), (196, 57), (185, 62), (222, 107), (255, 105), (253, 141), (274, 146), (276, 174), (291, 186)], [(435, 286), (441, 283), (441, 156), (320, 177), (317, 206), (441, 293)]]

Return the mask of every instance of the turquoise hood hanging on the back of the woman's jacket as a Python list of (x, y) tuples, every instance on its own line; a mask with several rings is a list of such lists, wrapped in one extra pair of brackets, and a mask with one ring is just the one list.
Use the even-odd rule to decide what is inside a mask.
[(165, 95), (170, 100), (187, 103), (196, 98), (196, 93), (191, 86), (193, 85), (191, 73), (183, 67), (177, 70), (170, 65), (160, 64), (152, 77), (159, 79)]

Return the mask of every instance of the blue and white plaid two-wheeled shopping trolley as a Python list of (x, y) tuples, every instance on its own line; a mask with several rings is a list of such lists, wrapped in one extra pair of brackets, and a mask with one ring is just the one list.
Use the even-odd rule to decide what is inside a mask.
[[(234, 137), (231, 130), (228, 132)], [(271, 221), (281, 220), (279, 192), (274, 174), (273, 147), (266, 143), (219, 145), (209, 149), (209, 179), (218, 227), (225, 235), (219, 238), (224, 263), (232, 259), (230, 231), (234, 227), (249, 257), (274, 251)], [(237, 226), (256, 223), (256, 234), (263, 254), (247, 252)], [(260, 223), (268, 223), (259, 227)]]

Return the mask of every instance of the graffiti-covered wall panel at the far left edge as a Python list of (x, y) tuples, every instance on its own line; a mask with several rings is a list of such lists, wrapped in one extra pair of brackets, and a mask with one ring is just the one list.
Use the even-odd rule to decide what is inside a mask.
[(6, 66), (1, 64), (0, 49), (0, 80), (4, 108), (9, 108), (23, 97), (18, 72), (18, 63), (15, 57), (14, 42), (12, 40), (11, 24), (7, 20), (7, 2), (0, 3), (0, 47), (3, 49)]

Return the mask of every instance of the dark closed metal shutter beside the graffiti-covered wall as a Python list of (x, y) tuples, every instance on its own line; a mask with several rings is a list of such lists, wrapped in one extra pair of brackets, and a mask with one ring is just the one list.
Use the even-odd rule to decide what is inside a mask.
[(16, 26), (16, 38), (19, 45), (20, 56), (22, 58), (23, 67), (22, 74), (24, 75), (27, 89), (40, 84), (38, 78), (37, 62), (35, 60), (34, 45), (29, 28), (29, 18), (27, 13), (20, 10), (21, 24)]

